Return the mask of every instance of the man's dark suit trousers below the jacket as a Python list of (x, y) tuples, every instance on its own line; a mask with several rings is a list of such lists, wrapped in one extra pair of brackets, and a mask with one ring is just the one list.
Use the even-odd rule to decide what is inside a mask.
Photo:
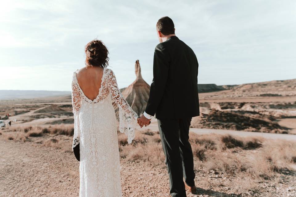
[(190, 122), (191, 118), (158, 119), (172, 197), (186, 197), (183, 177), (187, 185), (194, 185), (193, 155), (188, 141)]

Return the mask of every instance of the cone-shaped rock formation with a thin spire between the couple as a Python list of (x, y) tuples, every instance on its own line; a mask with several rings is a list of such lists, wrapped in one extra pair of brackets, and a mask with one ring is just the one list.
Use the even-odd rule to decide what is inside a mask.
[[(135, 63), (135, 73), (136, 80), (121, 93), (132, 109), (137, 112), (138, 115), (142, 115), (148, 102), (150, 86), (142, 78), (139, 60)], [(118, 118), (118, 107), (115, 103), (113, 103), (113, 107), (115, 109), (116, 117)]]

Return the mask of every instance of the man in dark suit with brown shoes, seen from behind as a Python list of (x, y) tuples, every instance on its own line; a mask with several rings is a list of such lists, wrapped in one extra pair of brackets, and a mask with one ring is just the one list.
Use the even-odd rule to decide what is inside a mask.
[(171, 196), (184, 197), (185, 188), (196, 192), (188, 134), (192, 117), (199, 116), (198, 62), (193, 50), (176, 37), (171, 18), (160, 18), (156, 30), (160, 43), (154, 50), (153, 81), (138, 123), (147, 126), (156, 114)]

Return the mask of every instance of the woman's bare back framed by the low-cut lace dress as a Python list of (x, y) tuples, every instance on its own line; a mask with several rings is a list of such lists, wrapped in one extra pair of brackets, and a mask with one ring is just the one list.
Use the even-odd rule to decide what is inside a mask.
[(99, 94), (104, 69), (102, 67), (81, 68), (76, 71), (77, 80), (84, 95), (94, 100)]

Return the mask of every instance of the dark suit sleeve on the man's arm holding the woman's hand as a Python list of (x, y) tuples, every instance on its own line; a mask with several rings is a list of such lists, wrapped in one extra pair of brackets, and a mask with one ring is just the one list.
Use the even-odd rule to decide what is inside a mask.
[(169, 57), (166, 49), (157, 45), (154, 50), (153, 81), (150, 86), (150, 94), (145, 112), (151, 116), (155, 115), (161, 102), (163, 92), (167, 84), (169, 74)]

